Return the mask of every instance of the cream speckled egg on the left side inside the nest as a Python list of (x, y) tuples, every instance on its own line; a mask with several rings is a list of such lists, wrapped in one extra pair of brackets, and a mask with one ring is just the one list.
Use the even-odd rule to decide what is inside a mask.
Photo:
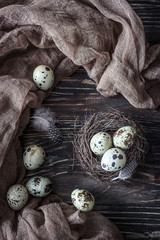
[(96, 155), (102, 156), (111, 147), (112, 138), (106, 132), (98, 132), (90, 140), (90, 149)]

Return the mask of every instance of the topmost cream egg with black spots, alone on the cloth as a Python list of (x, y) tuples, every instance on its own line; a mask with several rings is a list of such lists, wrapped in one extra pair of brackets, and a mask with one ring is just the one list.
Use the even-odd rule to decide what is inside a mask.
[(54, 74), (50, 67), (39, 65), (33, 72), (33, 81), (42, 90), (48, 90), (54, 83)]

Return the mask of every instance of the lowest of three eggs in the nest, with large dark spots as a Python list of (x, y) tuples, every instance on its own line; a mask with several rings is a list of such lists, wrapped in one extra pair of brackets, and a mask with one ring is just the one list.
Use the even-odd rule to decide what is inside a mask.
[(121, 170), (126, 164), (126, 154), (119, 148), (110, 148), (101, 159), (101, 167), (108, 172)]

